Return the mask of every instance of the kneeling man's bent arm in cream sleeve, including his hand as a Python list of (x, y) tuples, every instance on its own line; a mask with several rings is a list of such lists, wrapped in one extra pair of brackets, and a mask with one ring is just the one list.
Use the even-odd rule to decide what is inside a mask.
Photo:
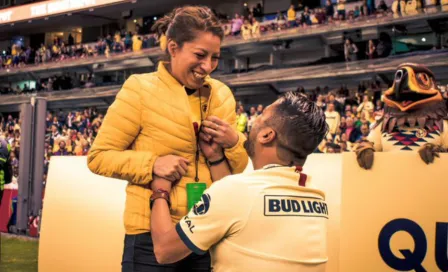
[[(188, 215), (173, 226), (165, 199), (156, 199), (151, 210), (151, 235), (154, 253), (159, 263), (173, 263), (182, 260), (191, 252), (205, 254), (225, 236), (239, 231), (245, 223), (250, 206), (229, 208), (229, 195), (240, 199), (248, 197), (245, 186), (235, 190), (232, 180), (221, 180), (212, 185), (202, 195)], [(157, 191), (171, 189), (171, 182), (156, 177), (151, 189)]]

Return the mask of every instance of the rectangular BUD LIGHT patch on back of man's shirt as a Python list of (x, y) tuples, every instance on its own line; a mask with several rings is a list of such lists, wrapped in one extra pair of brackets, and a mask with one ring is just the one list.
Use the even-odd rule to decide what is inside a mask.
[(265, 195), (265, 216), (305, 216), (328, 219), (325, 201), (317, 197)]

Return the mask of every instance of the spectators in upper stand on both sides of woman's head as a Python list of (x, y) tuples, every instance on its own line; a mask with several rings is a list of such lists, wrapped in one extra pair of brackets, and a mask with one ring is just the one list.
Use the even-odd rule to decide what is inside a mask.
[[(363, 3), (349, 11), (346, 10), (345, 0), (338, 0), (337, 4), (328, 0), (325, 7), (309, 9), (300, 2), (298, 6), (291, 5), (288, 10), (278, 11), (275, 15), (265, 15), (261, 4), (256, 5), (252, 10), (245, 7), (241, 15), (235, 14), (233, 18), (215, 13), (221, 18), (226, 36), (242, 37), (243, 39), (257, 38), (261, 33), (289, 28), (332, 25), (342, 21), (351, 22), (392, 15), (384, 1), (381, 1), (376, 8), (368, 6), (366, 0)], [(109, 57), (112, 54), (136, 52), (157, 46), (160, 40), (154, 34), (142, 34), (148, 32), (150, 29), (144, 29), (136, 24), (134, 32), (126, 29), (117, 30), (105, 37), (98, 37), (96, 43), (75, 44), (75, 40), (70, 34), (66, 41), (60, 37), (54, 37), (51, 44), (41, 44), (39, 48), (13, 44), (4, 49), (3, 54), (0, 55), (0, 69), (21, 68), (26, 65), (97, 56)]]

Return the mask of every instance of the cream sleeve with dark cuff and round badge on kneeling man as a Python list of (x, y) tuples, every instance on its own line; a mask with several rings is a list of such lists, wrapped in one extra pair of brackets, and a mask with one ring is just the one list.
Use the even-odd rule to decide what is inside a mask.
[[(204, 192), (201, 200), (176, 225), (185, 245), (202, 255), (222, 238), (239, 232), (244, 226), (250, 201), (247, 187), (235, 177), (221, 179)], [(243, 201), (234, 201), (244, 199)]]

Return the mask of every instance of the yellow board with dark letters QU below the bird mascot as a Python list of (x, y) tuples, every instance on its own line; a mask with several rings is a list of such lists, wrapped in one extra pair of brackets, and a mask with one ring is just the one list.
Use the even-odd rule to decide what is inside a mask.
[(448, 271), (448, 155), (376, 153), (370, 171), (343, 156), (339, 271)]

